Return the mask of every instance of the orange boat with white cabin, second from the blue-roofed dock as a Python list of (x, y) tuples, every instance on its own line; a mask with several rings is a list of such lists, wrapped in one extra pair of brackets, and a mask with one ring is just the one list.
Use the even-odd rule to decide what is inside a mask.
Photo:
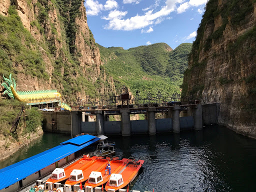
[(87, 166), (83, 166), (80, 169), (73, 169), (70, 173), (69, 178), (65, 181), (65, 184), (78, 184), (89, 178), (91, 171), (100, 170), (102, 167), (106, 166), (106, 163), (111, 160), (111, 156), (107, 156), (103, 159), (102, 156), (98, 156), (92, 163)]

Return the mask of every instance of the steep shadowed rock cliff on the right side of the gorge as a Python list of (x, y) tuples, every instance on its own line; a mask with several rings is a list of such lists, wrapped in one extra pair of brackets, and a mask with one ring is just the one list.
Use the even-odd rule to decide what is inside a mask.
[(209, 0), (184, 72), (182, 94), (219, 101), (218, 123), (256, 138), (255, 0)]

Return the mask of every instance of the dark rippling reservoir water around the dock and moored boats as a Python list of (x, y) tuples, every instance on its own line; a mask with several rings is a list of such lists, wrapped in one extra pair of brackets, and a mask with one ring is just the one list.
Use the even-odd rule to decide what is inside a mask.
[[(0, 161), (0, 168), (56, 146), (70, 135), (44, 133)], [(145, 160), (129, 185), (140, 191), (256, 191), (256, 140), (222, 126), (157, 135), (109, 136), (116, 154)]]

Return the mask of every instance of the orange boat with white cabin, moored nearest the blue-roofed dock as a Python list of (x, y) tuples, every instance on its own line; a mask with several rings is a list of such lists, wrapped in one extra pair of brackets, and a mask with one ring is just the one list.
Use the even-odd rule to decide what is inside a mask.
[(55, 168), (51, 176), (48, 180), (46, 180), (47, 183), (55, 183), (60, 182), (62, 180), (66, 180), (69, 177), (69, 174), (72, 172), (73, 169), (81, 169), (82, 167), (86, 167), (88, 164), (94, 162), (94, 160), (97, 158), (97, 156), (92, 156), (90, 158), (87, 158), (85, 155), (83, 155), (82, 158), (75, 161), (74, 163), (70, 164), (66, 168)]

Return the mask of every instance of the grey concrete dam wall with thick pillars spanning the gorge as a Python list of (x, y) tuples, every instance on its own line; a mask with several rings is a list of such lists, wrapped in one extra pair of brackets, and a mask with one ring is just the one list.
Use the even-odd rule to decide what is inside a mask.
[[(161, 118), (156, 118), (161, 113)], [(44, 112), (45, 129), (53, 132), (91, 134), (155, 134), (202, 129), (203, 125), (217, 123), (219, 103), (181, 104), (161, 107), (77, 109), (72, 111)], [(130, 115), (144, 114), (143, 120), (130, 120)], [(120, 120), (109, 121), (110, 115)], [(94, 117), (93, 117), (94, 116)], [(90, 120), (93, 118), (94, 120)]]

